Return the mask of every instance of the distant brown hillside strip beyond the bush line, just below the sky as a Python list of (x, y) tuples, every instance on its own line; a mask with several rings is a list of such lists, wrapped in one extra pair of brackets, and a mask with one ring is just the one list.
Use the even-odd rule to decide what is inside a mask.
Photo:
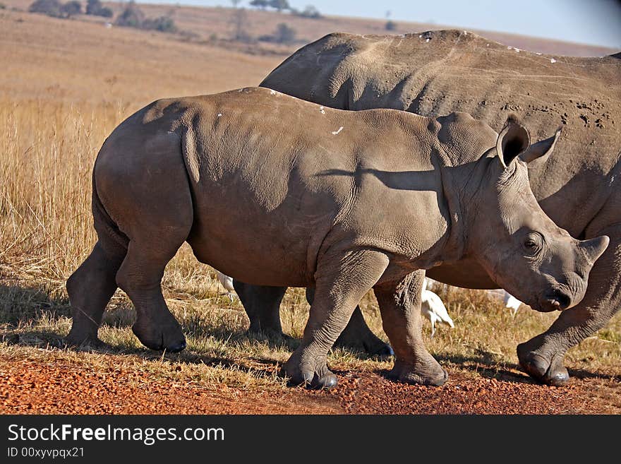
[[(8, 7), (27, 10), (31, 0), (2, 0)], [(83, 1), (83, 5), (86, 1)], [(104, 2), (116, 15), (118, 15), (126, 3)], [(207, 8), (198, 6), (176, 5), (150, 5), (139, 4), (138, 7), (147, 17), (170, 16), (182, 32), (179, 39), (191, 42), (217, 43), (227, 48), (240, 49), (253, 54), (281, 54), (287, 55), (301, 45), (317, 40), (330, 32), (351, 32), (357, 34), (405, 34), (409, 32), (422, 32), (425, 30), (448, 28), (447, 26), (428, 23), (406, 23), (394, 20), (394, 30), (385, 29), (385, 20), (373, 20), (366, 18), (346, 18), (337, 16), (325, 16), (318, 19), (302, 18), (290, 13), (277, 13), (275, 11), (258, 11), (246, 8), (240, 13), (234, 8)], [(79, 20), (104, 22), (104, 18), (92, 16), (78, 16)], [(236, 25), (241, 23), (243, 31), (254, 40), (251, 43), (231, 42), (234, 37)], [(275, 32), (279, 23), (285, 23), (296, 32), (295, 42), (291, 44), (272, 44), (256, 42), (260, 36), (271, 35)], [(454, 26), (450, 27), (454, 28)], [(603, 56), (618, 52), (618, 50), (606, 47), (596, 47), (586, 44), (574, 44), (557, 40), (547, 40), (536, 37), (505, 34), (502, 32), (488, 32), (474, 30), (479, 35), (501, 42), (512, 47), (530, 50), (531, 52), (543, 52), (546, 54), (563, 54), (571, 56)]]

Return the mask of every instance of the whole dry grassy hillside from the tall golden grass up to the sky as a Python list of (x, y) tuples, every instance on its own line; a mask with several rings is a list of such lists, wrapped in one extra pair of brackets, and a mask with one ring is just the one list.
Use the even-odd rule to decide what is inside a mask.
[[(170, 13), (177, 27), (186, 31), (180, 35), (105, 27), (106, 19), (85, 15), (71, 20), (50, 18), (12, 9), (27, 9), (29, 1), (0, 1), (8, 6), (0, 9), (0, 97), (9, 100), (119, 102), (135, 110), (160, 97), (257, 85), (295, 49), (334, 30), (385, 32), (383, 22), (378, 20), (313, 20), (248, 11), (251, 37), (270, 33), (286, 21), (298, 32), (299, 42), (236, 42), (230, 37), (231, 8), (140, 5), (146, 16)], [(109, 5), (117, 13), (121, 11), (120, 4)], [(399, 24), (396, 32), (433, 27), (411, 25), (409, 29)], [(193, 34), (188, 35), (188, 31)], [(486, 35), (514, 47), (555, 54), (611, 52), (515, 35)]]

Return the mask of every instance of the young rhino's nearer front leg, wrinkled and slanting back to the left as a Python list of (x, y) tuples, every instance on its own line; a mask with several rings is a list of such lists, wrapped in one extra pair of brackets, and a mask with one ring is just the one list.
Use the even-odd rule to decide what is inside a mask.
[(372, 250), (323, 256), (315, 273), (315, 298), (302, 343), (283, 366), (293, 385), (332, 388), (337, 376), (327, 368), (327, 353), (356, 305), (388, 266), (385, 254)]

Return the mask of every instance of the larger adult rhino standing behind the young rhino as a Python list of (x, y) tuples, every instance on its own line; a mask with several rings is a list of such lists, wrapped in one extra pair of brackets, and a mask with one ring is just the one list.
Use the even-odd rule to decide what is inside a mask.
[[(469, 112), (492, 127), (517, 114), (541, 138), (563, 126), (557, 156), (529, 165), (535, 197), (574, 237), (610, 236), (586, 297), (548, 331), (517, 347), (526, 372), (543, 383), (569, 380), (567, 350), (605, 326), (621, 302), (621, 54), (550, 56), (459, 30), (413, 35), (330, 34), (280, 64), (261, 86), (341, 109), (394, 108), (438, 117)], [(442, 263), (427, 274), (451, 285), (497, 288), (475, 261)], [(234, 281), (251, 329), (282, 332), (284, 288)], [(385, 350), (359, 309), (342, 333)]]

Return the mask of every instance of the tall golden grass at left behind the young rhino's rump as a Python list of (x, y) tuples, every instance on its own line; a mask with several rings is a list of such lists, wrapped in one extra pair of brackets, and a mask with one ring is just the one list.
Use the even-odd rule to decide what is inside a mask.
[(13, 275), (62, 282), (90, 251), (90, 173), (122, 104), (0, 101), (0, 257)]

